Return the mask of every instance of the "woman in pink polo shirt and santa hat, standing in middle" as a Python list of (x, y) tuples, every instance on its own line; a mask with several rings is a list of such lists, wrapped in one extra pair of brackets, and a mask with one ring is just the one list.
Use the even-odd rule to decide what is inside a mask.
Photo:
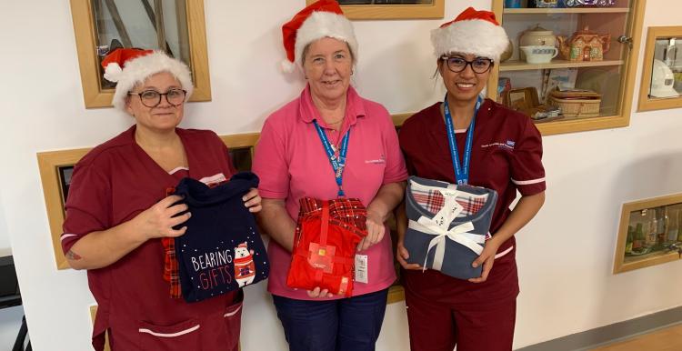
[[(307, 85), (267, 118), (256, 147), (253, 170), (264, 197), (260, 222), (271, 237), (268, 290), (291, 350), (374, 350), (387, 288), (396, 280), (384, 222), (402, 199), (407, 176), (396, 130), (382, 105), (349, 84), (357, 42), (336, 1), (309, 5), (283, 33), (288, 68), (299, 65)], [(325, 141), (334, 155), (346, 153), (338, 178)], [(340, 189), (367, 208), (368, 236), (357, 246), (353, 296), (289, 288), (298, 200), (336, 199)]]

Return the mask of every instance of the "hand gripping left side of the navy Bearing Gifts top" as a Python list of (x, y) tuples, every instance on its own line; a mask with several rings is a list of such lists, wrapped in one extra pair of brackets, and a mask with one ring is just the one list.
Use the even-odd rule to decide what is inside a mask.
[(145, 239), (176, 237), (185, 234), (186, 226), (180, 229), (173, 228), (185, 223), (192, 216), (189, 212), (176, 216), (179, 213), (185, 212), (188, 208), (186, 204), (174, 205), (182, 199), (182, 196), (176, 195), (165, 197), (165, 199), (157, 202), (154, 206), (135, 216), (136, 226), (139, 232), (145, 236)]

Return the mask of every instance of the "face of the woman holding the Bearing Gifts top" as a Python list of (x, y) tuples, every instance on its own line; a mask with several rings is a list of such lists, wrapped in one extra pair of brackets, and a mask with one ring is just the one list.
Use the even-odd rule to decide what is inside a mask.
[[(171, 89), (182, 89), (182, 85), (170, 73), (160, 72), (149, 76), (144, 83), (135, 85), (131, 93), (140, 94), (153, 90), (164, 94)], [(166, 96), (161, 96), (161, 101), (155, 107), (143, 105), (138, 95), (128, 95), (125, 102), (125, 110), (135, 117), (137, 126), (155, 132), (175, 129), (183, 119), (184, 107), (185, 104), (169, 104)]]

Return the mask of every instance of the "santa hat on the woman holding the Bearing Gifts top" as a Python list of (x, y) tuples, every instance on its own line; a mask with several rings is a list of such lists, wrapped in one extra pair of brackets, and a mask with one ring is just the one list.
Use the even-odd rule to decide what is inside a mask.
[(168, 72), (175, 76), (187, 91), (186, 100), (192, 95), (192, 74), (182, 61), (165, 55), (163, 51), (120, 48), (106, 55), (102, 60), (105, 79), (116, 84), (112, 104), (125, 110), (125, 96), (135, 85), (145, 82), (151, 75)]

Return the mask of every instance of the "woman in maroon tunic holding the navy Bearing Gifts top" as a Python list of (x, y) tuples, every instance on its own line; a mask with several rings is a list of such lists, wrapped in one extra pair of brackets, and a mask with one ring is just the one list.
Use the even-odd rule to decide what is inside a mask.
[[(191, 213), (168, 189), (187, 176), (225, 182), (235, 173), (226, 146), (213, 132), (177, 127), (193, 90), (182, 62), (117, 49), (102, 65), (116, 83), (115, 108), (135, 124), (75, 165), (61, 236), (97, 301), (93, 346), (103, 350), (108, 334), (113, 351), (236, 350), (241, 290), (187, 304), (170, 256)], [(261, 208), (256, 189), (244, 201)]]

